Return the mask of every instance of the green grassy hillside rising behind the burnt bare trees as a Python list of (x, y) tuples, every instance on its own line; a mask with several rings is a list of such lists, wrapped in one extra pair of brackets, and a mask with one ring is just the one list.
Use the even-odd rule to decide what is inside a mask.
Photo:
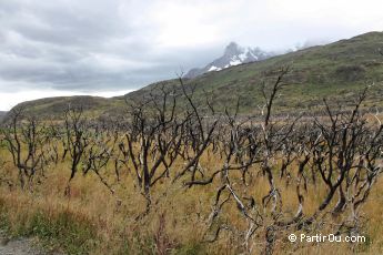
[[(261, 84), (272, 82), (275, 70), (289, 65), (291, 72), (286, 86), (276, 102), (280, 111), (312, 111), (323, 98), (347, 104), (366, 84), (374, 83), (367, 103), (379, 103), (383, 95), (383, 32), (370, 32), (331, 44), (312, 47), (268, 60), (232, 67), (219, 72), (209, 72), (195, 79), (187, 79), (187, 86), (195, 86), (194, 100), (203, 104), (204, 92), (214, 99), (218, 109), (232, 106), (241, 99), (241, 112), (248, 114), (263, 104)], [(124, 96), (113, 99), (87, 96), (87, 108), (94, 115), (109, 115), (122, 111), (124, 99), (140, 100), (148, 91), (163, 84), (175, 85), (177, 79), (158, 82)], [(46, 99), (23, 103), (39, 115), (56, 115), (69, 102), (84, 103), (82, 96)], [(89, 102), (88, 102), (89, 101)], [(20, 105), (19, 105), (20, 106)]]

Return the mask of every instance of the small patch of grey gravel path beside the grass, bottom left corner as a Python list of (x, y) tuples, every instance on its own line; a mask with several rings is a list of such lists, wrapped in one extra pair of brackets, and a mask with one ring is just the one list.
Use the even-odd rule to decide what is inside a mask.
[(28, 238), (9, 241), (0, 232), (0, 255), (43, 255)]

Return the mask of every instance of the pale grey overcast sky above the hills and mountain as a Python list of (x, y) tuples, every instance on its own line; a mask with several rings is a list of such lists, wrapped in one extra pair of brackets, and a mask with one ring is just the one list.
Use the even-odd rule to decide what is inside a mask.
[(175, 78), (230, 41), (282, 50), (383, 30), (382, 0), (0, 0), (0, 110)]

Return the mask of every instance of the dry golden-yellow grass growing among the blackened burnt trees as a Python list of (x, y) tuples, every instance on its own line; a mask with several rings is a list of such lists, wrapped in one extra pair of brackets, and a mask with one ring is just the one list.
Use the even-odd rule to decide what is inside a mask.
[[(202, 164), (213, 170), (219, 167), (219, 160), (204, 155)], [(177, 169), (177, 165), (173, 169)], [(256, 172), (255, 169), (252, 171)], [(239, 252), (238, 241), (226, 232), (222, 232), (214, 243), (203, 242), (219, 178), (213, 185), (192, 188), (185, 188), (182, 180), (172, 184), (171, 180), (165, 178), (152, 190), (153, 204), (149, 215), (137, 221), (137, 216), (145, 210), (145, 201), (134, 187), (134, 180), (127, 170), (122, 172), (120, 183), (115, 182), (112, 170), (110, 173), (103, 172), (108, 181), (114, 183), (114, 194), (111, 194), (94, 174), (82, 176), (79, 173), (70, 184), (71, 195), (65, 196), (69, 174), (68, 162), (59, 163), (46, 170), (41, 184), (34, 185), (33, 191), (26, 192), (17, 186), (17, 171), (7, 163), (0, 170), (3, 181), (0, 186), (0, 226), (8, 228), (11, 235), (38, 235), (48, 248), (60, 248), (70, 254), (152, 254), (158, 252), (159, 244), (171, 248), (173, 254)], [(12, 181), (14, 185), (8, 185), (6, 180)], [(295, 187), (286, 186), (283, 182), (278, 185), (282, 188), (283, 211), (293, 215), (298, 206)], [(268, 188), (266, 180), (254, 175), (248, 191), (260, 204)], [(382, 192), (383, 180), (379, 180), (362, 210), (366, 221), (364, 233), (369, 237), (367, 243), (354, 246), (354, 249), (344, 243), (291, 244), (286, 239), (289, 233), (283, 233), (283, 236), (278, 238), (275, 254), (350, 254), (353, 251), (361, 254), (381, 254)], [(323, 186), (311, 186), (304, 203), (304, 213), (313, 213), (323, 196)], [(243, 226), (243, 218), (235, 204), (228, 203), (223, 210), (229, 222), (239, 227)], [(65, 215), (68, 222), (62, 223), (62, 215)], [(65, 239), (60, 233), (51, 233), (50, 230), (73, 236)], [(263, 235), (261, 232), (260, 236), (254, 238), (254, 254), (263, 248)], [(70, 242), (73, 244), (70, 245)]]

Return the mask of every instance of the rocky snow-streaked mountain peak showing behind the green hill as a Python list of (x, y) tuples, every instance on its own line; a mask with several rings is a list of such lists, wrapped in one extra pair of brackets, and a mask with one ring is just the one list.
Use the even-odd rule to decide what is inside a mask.
[(260, 48), (242, 48), (235, 42), (231, 42), (225, 48), (221, 58), (214, 60), (204, 68), (191, 69), (184, 78), (195, 78), (206, 72), (221, 71), (230, 67), (264, 60), (273, 55), (275, 54), (262, 51)]

